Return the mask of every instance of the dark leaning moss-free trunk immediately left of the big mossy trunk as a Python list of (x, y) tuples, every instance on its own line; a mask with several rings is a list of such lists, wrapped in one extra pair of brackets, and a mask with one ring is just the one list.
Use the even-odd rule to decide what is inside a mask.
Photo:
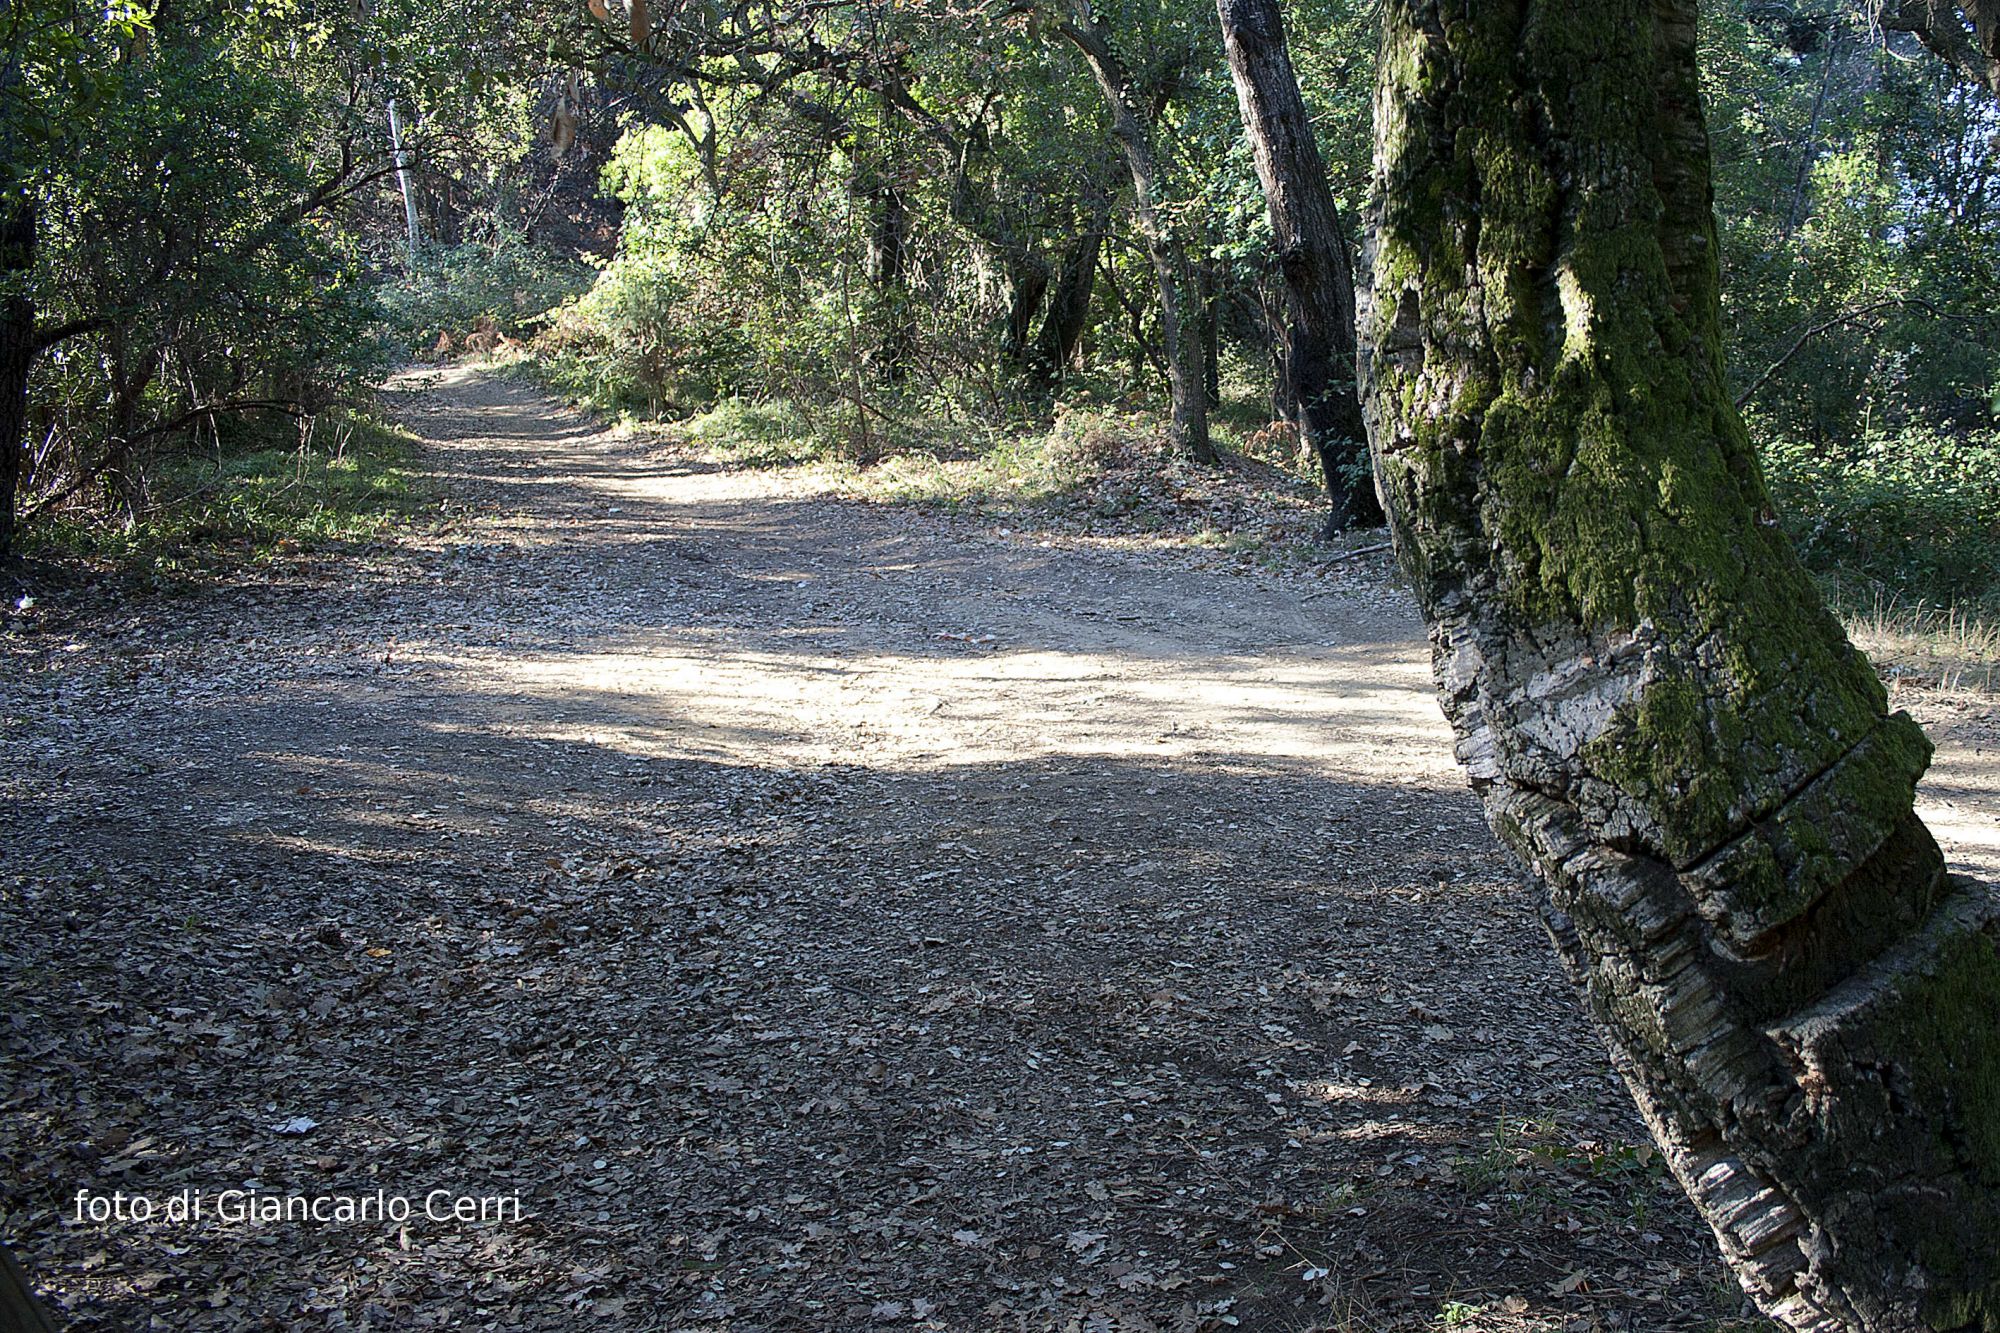
[(1284, 46), (1278, 0), (1216, 0), (1216, 16), (1290, 292), (1280, 378), (1298, 394), (1298, 406), (1286, 416), (1326, 476), (1326, 530), (1376, 524), (1382, 506), (1374, 486), (1350, 466), (1364, 444), (1354, 388), (1354, 266)]

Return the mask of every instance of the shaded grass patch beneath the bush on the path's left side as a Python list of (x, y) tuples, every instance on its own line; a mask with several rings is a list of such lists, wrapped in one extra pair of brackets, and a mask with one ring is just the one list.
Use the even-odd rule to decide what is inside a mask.
[(22, 544), (156, 584), (348, 546), (420, 508), (414, 446), (362, 412), (326, 412), (304, 428), (236, 422), (216, 454), (156, 466), (138, 514), (70, 504), (32, 522)]

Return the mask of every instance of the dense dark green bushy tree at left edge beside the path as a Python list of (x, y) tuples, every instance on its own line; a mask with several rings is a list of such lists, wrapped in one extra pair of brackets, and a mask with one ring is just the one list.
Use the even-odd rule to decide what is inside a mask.
[[(374, 368), (354, 240), (314, 216), (318, 90), (228, 16), (158, 24), (48, 160), (30, 296), (74, 324), (34, 364), (28, 498), (146, 506), (156, 458), (250, 402), (320, 410)], [(336, 178), (338, 184), (338, 178)]]

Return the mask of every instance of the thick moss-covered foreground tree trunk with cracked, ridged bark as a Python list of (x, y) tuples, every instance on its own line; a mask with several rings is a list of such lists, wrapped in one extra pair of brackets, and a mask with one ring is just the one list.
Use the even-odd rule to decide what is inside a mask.
[(1694, 0), (1390, 0), (1362, 374), (1458, 755), (1794, 1329), (2000, 1329), (2000, 897), (1722, 374)]

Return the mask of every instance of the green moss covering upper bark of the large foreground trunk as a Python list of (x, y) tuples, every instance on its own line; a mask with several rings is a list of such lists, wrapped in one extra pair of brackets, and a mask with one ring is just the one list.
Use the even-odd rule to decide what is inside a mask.
[[(1388, 44), (1402, 110), (1376, 280), (1414, 292), (1424, 354), (1376, 368), (1404, 428), (1378, 470), (1420, 586), (1488, 584), (1544, 638), (1644, 628), (1682, 648), (1584, 761), (1644, 809), (1648, 851), (1688, 865), (1874, 731), (1886, 699), (1770, 516), (1722, 382), (1714, 246), (1630, 170), (1672, 130), (1636, 10), (1554, 6), (1528, 28), (1522, 6), (1438, 12), (1428, 42)], [(1378, 302), (1378, 342), (1400, 314)], [(1920, 771), (1852, 797), (1886, 827)], [(1774, 863), (1744, 887), (1758, 915), (1788, 877)]]

